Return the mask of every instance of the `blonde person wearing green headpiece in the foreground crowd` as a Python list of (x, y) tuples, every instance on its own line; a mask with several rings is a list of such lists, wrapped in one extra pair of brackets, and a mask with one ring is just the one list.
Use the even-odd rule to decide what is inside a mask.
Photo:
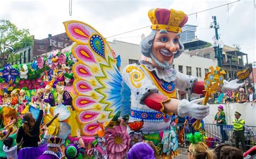
[(191, 142), (187, 149), (188, 159), (213, 159), (213, 151), (209, 150), (204, 142), (201, 142), (203, 136), (200, 133), (188, 134), (187, 138)]

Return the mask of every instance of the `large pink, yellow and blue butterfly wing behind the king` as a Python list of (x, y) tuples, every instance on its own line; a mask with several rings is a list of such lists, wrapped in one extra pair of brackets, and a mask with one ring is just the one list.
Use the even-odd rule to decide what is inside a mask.
[(71, 49), (78, 60), (72, 67), (77, 93), (73, 107), (82, 133), (94, 136), (101, 129), (98, 122), (107, 126), (120, 109), (122, 76), (112, 49), (99, 32), (81, 21), (63, 24), (68, 37), (76, 42)]

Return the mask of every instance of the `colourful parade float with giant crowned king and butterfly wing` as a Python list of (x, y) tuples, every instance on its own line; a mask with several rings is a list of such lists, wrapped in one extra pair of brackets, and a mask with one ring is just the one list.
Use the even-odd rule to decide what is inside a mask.
[[(149, 18), (152, 32), (143, 39), (141, 49), (152, 62), (130, 64), (123, 74), (104, 37), (90, 25), (75, 20), (64, 22), (66, 34), (75, 42), (71, 52), (56, 51), (30, 63), (6, 64), (0, 71), (3, 125), (13, 118), (21, 119), (28, 111), (36, 118), (41, 98), (44, 124), (59, 113), (49, 126), (49, 134), (62, 138), (66, 146), (76, 141), (76, 130), (81, 129), (87, 158), (123, 158), (134, 143), (143, 140), (152, 142), (158, 157), (176, 156), (178, 137), (171, 125), (173, 112), (180, 117), (203, 119), (209, 111), (207, 100), (206, 106), (198, 104), (201, 99), (178, 100), (176, 90), (204, 94), (205, 84), (172, 69), (173, 59), (184, 51), (178, 37), (187, 15), (173, 9), (152, 9)], [(220, 68), (212, 68), (210, 74), (208, 78), (218, 78), (221, 85), (207, 83), (209, 89), (235, 90), (244, 85), (225, 81)], [(120, 117), (129, 115), (127, 127), (107, 127), (119, 111)], [(16, 127), (20, 125), (21, 121)]]

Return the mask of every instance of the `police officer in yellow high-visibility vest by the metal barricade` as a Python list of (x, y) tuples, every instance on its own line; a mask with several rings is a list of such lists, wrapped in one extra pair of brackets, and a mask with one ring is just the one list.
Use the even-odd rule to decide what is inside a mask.
[(235, 147), (239, 148), (239, 140), (242, 144), (242, 150), (244, 152), (246, 151), (246, 146), (245, 146), (245, 120), (239, 119), (241, 114), (237, 111), (235, 111), (235, 119), (233, 120), (233, 127), (234, 127), (234, 132), (233, 136), (235, 138)]

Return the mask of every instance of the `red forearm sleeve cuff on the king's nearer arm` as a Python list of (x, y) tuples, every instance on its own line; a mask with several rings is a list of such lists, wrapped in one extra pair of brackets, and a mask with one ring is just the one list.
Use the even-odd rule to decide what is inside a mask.
[(143, 102), (149, 108), (164, 113), (164, 102), (169, 101), (170, 98), (167, 98), (164, 95), (159, 95), (158, 93), (150, 93), (146, 96)]

